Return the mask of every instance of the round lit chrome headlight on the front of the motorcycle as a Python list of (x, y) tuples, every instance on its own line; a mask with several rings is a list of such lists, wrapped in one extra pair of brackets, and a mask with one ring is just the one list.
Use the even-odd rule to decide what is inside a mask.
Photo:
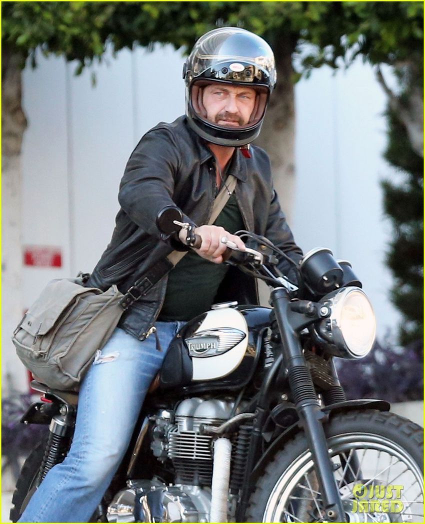
[(319, 336), (331, 344), (328, 351), (342, 358), (363, 358), (375, 342), (375, 313), (366, 293), (357, 287), (333, 291), (320, 301), (331, 315), (320, 321)]

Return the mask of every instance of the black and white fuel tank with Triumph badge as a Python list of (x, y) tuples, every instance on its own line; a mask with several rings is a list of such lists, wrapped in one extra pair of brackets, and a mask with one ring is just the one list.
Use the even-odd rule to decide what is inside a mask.
[(243, 386), (253, 375), (270, 311), (225, 302), (188, 322), (170, 344), (160, 388), (195, 392)]

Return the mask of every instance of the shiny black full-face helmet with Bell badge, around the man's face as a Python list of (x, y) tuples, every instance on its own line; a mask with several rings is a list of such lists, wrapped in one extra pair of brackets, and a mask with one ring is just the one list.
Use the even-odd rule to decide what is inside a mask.
[[(268, 43), (238, 27), (222, 27), (203, 35), (183, 66), (186, 116), (191, 128), (212, 144), (244, 146), (259, 134), (271, 91), (276, 85), (275, 57)], [(249, 86), (256, 91), (249, 122), (225, 127), (206, 119), (203, 89), (211, 82)]]

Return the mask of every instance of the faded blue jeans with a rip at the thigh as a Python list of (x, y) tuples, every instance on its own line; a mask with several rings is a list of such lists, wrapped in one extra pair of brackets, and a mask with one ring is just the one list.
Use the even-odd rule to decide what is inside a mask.
[(127, 450), (152, 379), (185, 322), (157, 322), (139, 341), (117, 328), (86, 374), (66, 459), (54, 466), (19, 522), (88, 522)]

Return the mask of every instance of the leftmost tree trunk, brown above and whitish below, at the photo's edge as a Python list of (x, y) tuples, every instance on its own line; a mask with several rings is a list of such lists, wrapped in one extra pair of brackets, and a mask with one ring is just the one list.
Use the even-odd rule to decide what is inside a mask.
[[(24, 58), (6, 46), (2, 52), (2, 357), (3, 388), (27, 390), (10, 336), (23, 315), (21, 300), (21, 163), (20, 150), (27, 121), (21, 107), (21, 65)], [(21, 368), (12, 382), (10, 369)], [(14, 374), (18, 376), (18, 374)]]

